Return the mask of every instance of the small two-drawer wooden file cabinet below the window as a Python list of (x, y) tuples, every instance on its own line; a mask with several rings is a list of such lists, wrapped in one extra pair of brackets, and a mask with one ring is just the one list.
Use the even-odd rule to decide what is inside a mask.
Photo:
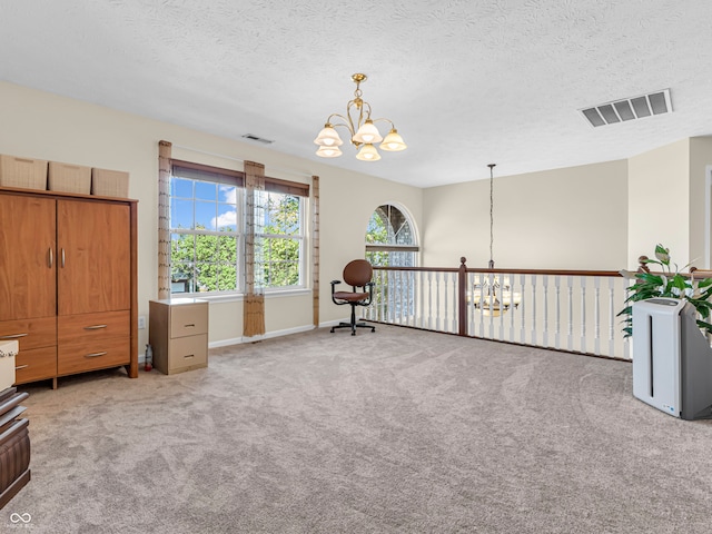
[(166, 375), (207, 367), (208, 301), (172, 298), (148, 304), (154, 367)]

